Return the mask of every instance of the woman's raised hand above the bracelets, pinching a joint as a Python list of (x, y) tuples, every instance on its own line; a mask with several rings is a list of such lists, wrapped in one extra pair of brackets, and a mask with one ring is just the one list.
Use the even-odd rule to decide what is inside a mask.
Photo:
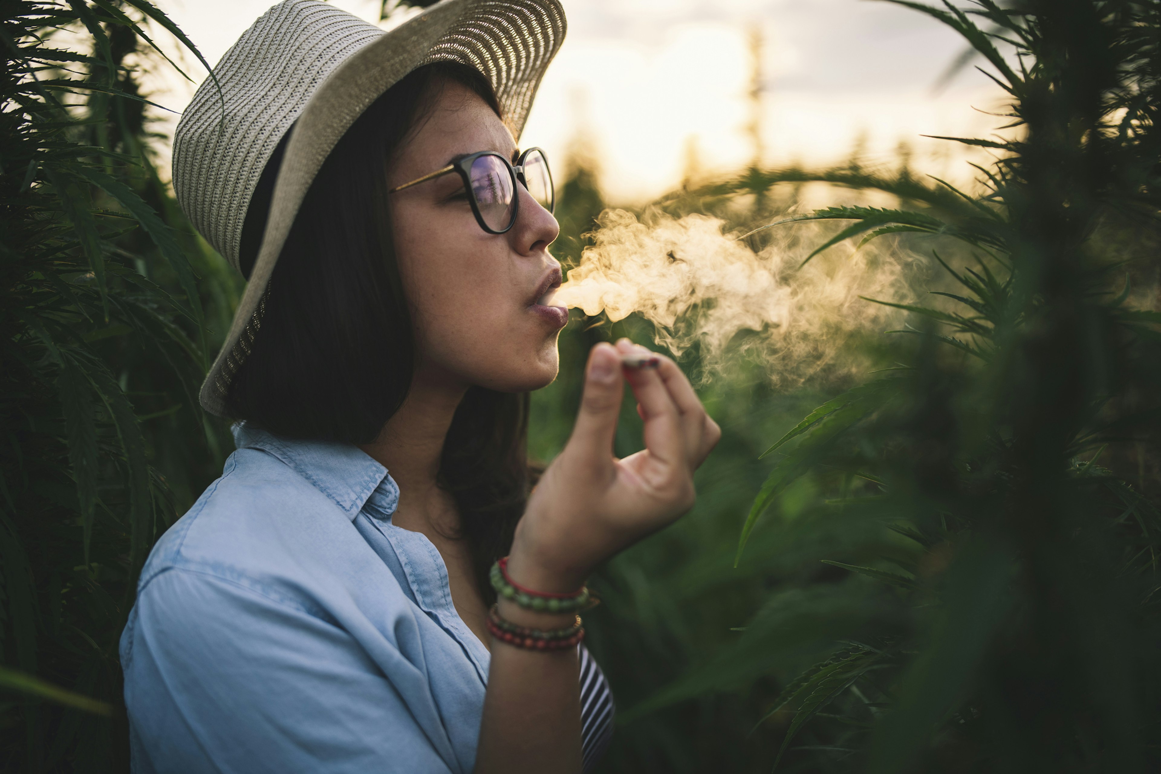
[[(629, 354), (655, 356), (659, 366), (622, 368)], [(613, 437), (625, 379), (644, 421), (646, 448), (618, 460)], [(528, 500), (509, 572), (538, 591), (575, 591), (601, 560), (693, 506), (693, 471), (720, 437), (673, 361), (627, 339), (615, 348), (597, 345), (572, 436)]]

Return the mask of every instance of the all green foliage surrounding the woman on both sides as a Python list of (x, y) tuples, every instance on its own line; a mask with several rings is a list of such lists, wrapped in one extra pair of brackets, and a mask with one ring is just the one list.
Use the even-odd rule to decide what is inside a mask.
[[(384, 14), (408, 5), (430, 3)], [(841, 243), (816, 261), (889, 240), (914, 294), (886, 299), (900, 331), (852, 332), (805, 378), (772, 381), (744, 333), (724, 370), (682, 354), (724, 434), (693, 512), (593, 581), (619, 703), (601, 771), (1161, 768), (1161, 2), (900, 5), (1011, 97), (1003, 138), (965, 140), (994, 153), (978, 189), (856, 155), (691, 171), (639, 208), (779, 223), (756, 251)], [(142, 74), (174, 65), (146, 32), (178, 31), (145, 0), (0, 6), (0, 768), (127, 771), (116, 641), (149, 547), (231, 450), (196, 388), (239, 280), (154, 166)], [(586, 138), (564, 150), (571, 267), (605, 201)], [(821, 225), (787, 223), (820, 189)], [(621, 335), (654, 331), (574, 311), (534, 457)], [(627, 402), (616, 451), (640, 447)]]

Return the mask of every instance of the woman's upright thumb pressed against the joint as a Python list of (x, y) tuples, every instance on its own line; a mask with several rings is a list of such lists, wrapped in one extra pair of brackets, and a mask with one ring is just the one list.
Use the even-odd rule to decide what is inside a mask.
[(569, 439), (569, 450), (578, 462), (601, 465), (612, 460), (623, 391), (621, 356), (612, 345), (598, 343), (589, 353), (580, 411)]

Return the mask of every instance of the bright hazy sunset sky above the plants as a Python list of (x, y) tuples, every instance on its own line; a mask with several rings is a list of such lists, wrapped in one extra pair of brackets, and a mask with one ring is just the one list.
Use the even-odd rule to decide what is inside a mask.
[[(156, 0), (216, 63), (269, 0)], [(377, 0), (333, 0), (377, 22)], [(647, 201), (698, 176), (748, 165), (753, 58), (762, 39), (762, 162), (827, 165), (896, 158), (971, 179), (965, 153), (923, 135), (987, 136), (998, 89), (973, 68), (938, 87), (966, 44), (936, 20), (875, 0), (563, 0), (569, 31), (549, 66), (521, 146), (554, 160), (582, 139), (613, 203)], [(390, 26), (390, 22), (385, 22)], [(186, 72), (205, 71), (190, 56)], [(165, 78), (154, 100), (180, 111), (195, 85)], [(560, 166), (560, 165), (557, 165)]]

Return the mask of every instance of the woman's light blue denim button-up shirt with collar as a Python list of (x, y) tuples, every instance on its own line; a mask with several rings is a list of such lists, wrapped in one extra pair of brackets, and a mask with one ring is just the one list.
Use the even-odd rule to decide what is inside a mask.
[(132, 768), (471, 772), (488, 650), (360, 449), (240, 426), (121, 636)]

